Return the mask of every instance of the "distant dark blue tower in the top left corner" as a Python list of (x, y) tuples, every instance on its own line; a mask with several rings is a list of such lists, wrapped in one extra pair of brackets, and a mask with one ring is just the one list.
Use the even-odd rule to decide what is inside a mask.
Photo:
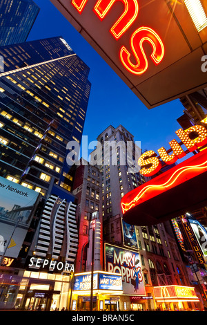
[(26, 41), (38, 13), (32, 0), (0, 0), (0, 46)]

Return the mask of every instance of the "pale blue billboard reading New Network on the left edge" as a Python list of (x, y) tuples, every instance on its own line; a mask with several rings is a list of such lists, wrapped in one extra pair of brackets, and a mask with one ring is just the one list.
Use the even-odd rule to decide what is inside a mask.
[(0, 177), (0, 256), (18, 257), (39, 193)]

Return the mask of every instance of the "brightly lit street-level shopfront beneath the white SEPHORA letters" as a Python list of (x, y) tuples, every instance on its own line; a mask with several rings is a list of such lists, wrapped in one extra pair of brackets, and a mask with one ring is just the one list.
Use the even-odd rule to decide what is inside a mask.
[(70, 275), (19, 271), (1, 274), (0, 310), (69, 310)]

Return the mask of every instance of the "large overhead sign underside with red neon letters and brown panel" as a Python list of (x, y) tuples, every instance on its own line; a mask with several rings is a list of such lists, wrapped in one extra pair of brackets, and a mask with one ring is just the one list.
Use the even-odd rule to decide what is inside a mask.
[(148, 109), (206, 86), (206, 28), (184, 1), (50, 1)]

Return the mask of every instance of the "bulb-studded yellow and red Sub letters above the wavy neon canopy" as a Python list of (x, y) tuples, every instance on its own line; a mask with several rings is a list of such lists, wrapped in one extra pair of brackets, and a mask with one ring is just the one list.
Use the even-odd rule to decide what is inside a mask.
[[(201, 122), (207, 124), (207, 118)], [(185, 131), (183, 129), (179, 129), (175, 133), (181, 140), (182, 144), (184, 144), (190, 152), (207, 144), (207, 130), (206, 127), (201, 125), (194, 125)], [(172, 149), (172, 154), (168, 154), (164, 147), (158, 149), (159, 157), (167, 165), (172, 165), (178, 159), (186, 156), (186, 153), (181, 148), (177, 140), (174, 139), (170, 141), (169, 145)], [(155, 175), (161, 169), (161, 162), (155, 154), (155, 151), (152, 150), (146, 151), (140, 156), (138, 165), (141, 166), (140, 174), (144, 176)]]

